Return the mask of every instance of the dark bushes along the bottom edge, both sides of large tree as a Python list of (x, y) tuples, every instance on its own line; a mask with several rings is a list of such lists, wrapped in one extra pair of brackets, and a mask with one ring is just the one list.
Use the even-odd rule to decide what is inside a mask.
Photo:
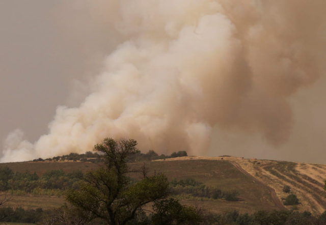
[[(153, 205), (153, 214), (146, 215), (140, 211), (137, 216), (127, 224), (225, 224), (225, 225), (315, 225), (325, 224), (326, 212), (312, 215), (310, 212), (294, 211), (257, 211), (253, 214), (241, 214), (236, 210), (224, 213), (202, 213), (198, 210), (182, 206), (177, 200), (165, 199), (156, 201)], [(3, 207), (0, 208), (0, 218), (3, 222), (37, 223), (37, 224), (107, 224), (96, 219), (82, 209), (63, 205), (52, 210), (23, 209)]]

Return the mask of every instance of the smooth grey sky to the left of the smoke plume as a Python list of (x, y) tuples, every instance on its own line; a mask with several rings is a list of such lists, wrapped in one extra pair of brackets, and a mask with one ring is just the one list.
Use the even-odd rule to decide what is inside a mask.
[(74, 79), (97, 73), (110, 52), (101, 15), (64, 2), (0, 1), (1, 140), (16, 128), (32, 141), (44, 134), (57, 105), (81, 100)]

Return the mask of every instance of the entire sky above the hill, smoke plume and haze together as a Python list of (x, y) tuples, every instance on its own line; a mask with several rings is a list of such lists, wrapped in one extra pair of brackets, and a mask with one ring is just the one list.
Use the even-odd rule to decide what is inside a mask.
[[(159, 153), (325, 162), (325, 1), (19, 2), (0, 3), (1, 161), (128, 137)], [(45, 132), (56, 104), (68, 106), (35, 143), (5, 138)]]

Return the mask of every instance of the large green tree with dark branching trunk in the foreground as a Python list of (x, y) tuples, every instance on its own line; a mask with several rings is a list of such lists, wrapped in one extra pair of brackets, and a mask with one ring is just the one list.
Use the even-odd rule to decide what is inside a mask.
[[(67, 201), (79, 210), (91, 213), (106, 224), (127, 224), (143, 214), (143, 207), (166, 198), (169, 182), (158, 174), (131, 182), (127, 176), (128, 158), (139, 153), (133, 139), (116, 141), (105, 138), (94, 147), (105, 166), (89, 172), (78, 189), (67, 193)], [(88, 214), (87, 214), (88, 215)]]

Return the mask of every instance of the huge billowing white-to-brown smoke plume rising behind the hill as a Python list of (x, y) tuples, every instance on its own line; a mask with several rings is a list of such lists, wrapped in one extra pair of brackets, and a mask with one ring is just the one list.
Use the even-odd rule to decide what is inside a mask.
[[(103, 5), (93, 9), (101, 9)], [(59, 106), (35, 144), (10, 134), (2, 162), (90, 151), (104, 137), (204, 154), (212, 127), (286, 142), (287, 98), (322, 75), (324, 0), (115, 0), (123, 40), (76, 108)], [(95, 10), (96, 11), (96, 10)]]

